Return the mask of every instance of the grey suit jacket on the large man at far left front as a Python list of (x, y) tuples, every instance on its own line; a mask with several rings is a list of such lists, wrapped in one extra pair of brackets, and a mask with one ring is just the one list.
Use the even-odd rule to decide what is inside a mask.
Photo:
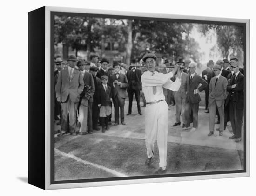
[(65, 102), (69, 96), (72, 102), (78, 103), (83, 89), (84, 81), (81, 71), (74, 69), (70, 78), (68, 69), (61, 70), (55, 86), (56, 98), (60, 97), (61, 102)]

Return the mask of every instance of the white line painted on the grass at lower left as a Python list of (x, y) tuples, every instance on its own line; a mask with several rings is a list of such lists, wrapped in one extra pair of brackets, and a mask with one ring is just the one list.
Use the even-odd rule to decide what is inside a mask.
[(70, 154), (70, 153), (67, 154), (67, 153), (65, 153), (65, 152), (62, 152), (62, 151), (56, 149), (56, 148), (54, 148), (54, 152), (57, 153), (57, 154), (60, 154), (60, 155), (62, 155), (62, 156), (65, 156), (65, 157), (72, 158), (72, 159), (76, 160), (77, 162), (81, 162), (81, 163), (83, 163), (83, 164), (88, 164), (88, 165), (91, 165), (91, 166), (96, 167), (96, 168), (98, 168), (98, 169), (107, 171), (108, 173), (111, 173), (111, 174), (115, 175), (116, 177), (128, 177), (127, 175), (122, 174), (122, 173), (120, 173), (120, 172), (118, 172), (118, 171), (111, 170), (111, 169), (109, 169), (109, 168), (107, 168), (107, 167), (104, 167), (104, 166), (101, 166), (101, 165), (98, 165), (98, 164), (94, 164), (94, 163), (85, 161), (85, 160), (83, 160), (83, 159), (81, 159), (81, 158), (76, 157), (76, 156), (73, 155), (73, 154)]

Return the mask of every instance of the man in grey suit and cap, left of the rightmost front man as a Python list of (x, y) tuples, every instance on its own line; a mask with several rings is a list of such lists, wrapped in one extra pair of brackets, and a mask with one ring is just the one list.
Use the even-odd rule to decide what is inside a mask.
[(221, 75), (221, 66), (214, 65), (213, 71), (215, 77), (212, 77), (209, 84), (209, 130), (210, 133), (208, 136), (213, 135), (214, 133), (214, 122), (216, 116), (216, 108), (219, 111), (220, 115), (220, 128), (219, 135), (223, 135), (224, 130), (224, 105), (225, 99), (227, 98), (227, 79)]

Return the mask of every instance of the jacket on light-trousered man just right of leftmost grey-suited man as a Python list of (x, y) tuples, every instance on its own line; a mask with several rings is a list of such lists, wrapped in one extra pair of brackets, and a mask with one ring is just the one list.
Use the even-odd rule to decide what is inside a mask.
[[(95, 85), (94, 85), (93, 76), (90, 73), (88, 73), (87, 71), (85, 71), (83, 81), (84, 81), (84, 89), (83, 89), (80, 96), (81, 96), (81, 98), (85, 98), (86, 91), (87, 91), (88, 95), (90, 96), (89, 102), (92, 103), (94, 101), (93, 100), (93, 95), (94, 95), (94, 92), (95, 92)], [(88, 87), (90, 87), (89, 90), (88, 90)]]

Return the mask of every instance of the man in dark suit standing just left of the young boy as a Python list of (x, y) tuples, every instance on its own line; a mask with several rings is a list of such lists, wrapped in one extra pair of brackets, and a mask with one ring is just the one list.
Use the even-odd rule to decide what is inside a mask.
[(98, 107), (98, 99), (97, 99), (97, 94), (98, 94), (98, 89), (101, 86), (101, 80), (100, 78), (97, 77), (97, 72), (99, 71), (99, 68), (97, 67), (90, 67), (90, 73), (93, 76), (94, 80), (94, 86), (95, 86), (95, 92), (93, 96), (93, 103), (91, 103), (91, 108), (92, 108), (92, 116), (93, 116), (93, 129), (96, 131), (99, 131), (100, 128), (98, 127), (98, 121), (99, 121), (99, 114), (100, 114), (100, 109)]

